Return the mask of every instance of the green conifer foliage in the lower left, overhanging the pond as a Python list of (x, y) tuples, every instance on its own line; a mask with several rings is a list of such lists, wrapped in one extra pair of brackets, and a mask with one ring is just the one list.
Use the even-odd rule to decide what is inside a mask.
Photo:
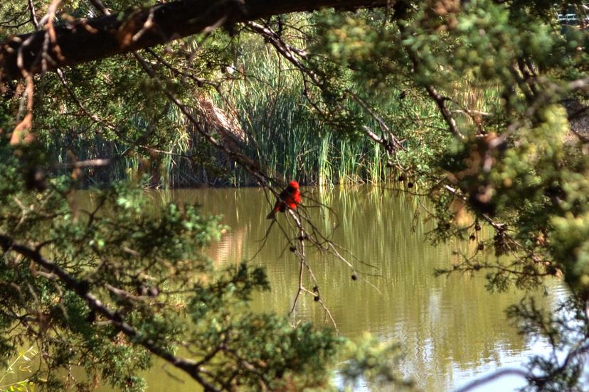
[[(40, 266), (30, 254), (11, 251), (1, 257), (1, 359), (32, 342), (42, 355), (29, 380), (48, 390), (109, 383), (141, 391), (139, 374), (153, 365), (151, 352), (196, 366), (195, 378), (215, 390), (329, 388), (344, 339), (253, 313), (252, 293), (270, 289), (264, 271), (245, 263), (216, 271), (201, 253), (223, 229), (218, 218), (203, 217), (196, 206), (156, 207), (140, 184), (75, 192), (74, 180), (51, 175), (43, 156), (33, 156), (38, 149), (13, 148), (4, 138), (0, 154), (4, 249), (26, 244), (54, 264)], [(27, 184), (33, 162), (33, 175), (45, 176), (43, 187), (40, 178)], [(58, 270), (75, 285), (60, 281)], [(395, 374), (382, 362), (386, 351), (349, 352), (372, 362), (346, 379), (363, 376), (377, 359), (383, 365), (373, 373)]]

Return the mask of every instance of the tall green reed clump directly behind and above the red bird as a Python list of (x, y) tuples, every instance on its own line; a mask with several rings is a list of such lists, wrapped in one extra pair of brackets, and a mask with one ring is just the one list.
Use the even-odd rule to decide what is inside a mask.
[[(260, 156), (268, 171), (302, 183), (378, 182), (386, 178), (381, 175), (384, 163), (378, 160), (382, 153), (377, 151), (378, 158), (371, 159), (371, 143), (348, 143), (349, 134), (342, 135), (329, 120), (309, 111), (296, 70), (283, 70), (282, 60), (262, 46), (259, 38), (245, 36), (240, 46), (243, 55), (237, 67), (259, 76), (236, 82), (229, 100), (240, 113), (246, 133), (255, 140), (250, 154)], [(354, 108), (349, 105), (346, 109)], [(375, 171), (378, 174), (371, 175)]]

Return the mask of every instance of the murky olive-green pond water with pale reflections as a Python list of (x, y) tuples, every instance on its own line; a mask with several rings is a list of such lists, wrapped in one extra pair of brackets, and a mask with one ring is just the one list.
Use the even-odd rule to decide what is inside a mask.
[[(314, 205), (309, 201), (313, 199), (332, 209), (331, 214), (322, 214), (319, 208), (309, 207), (307, 211), (324, 234), (353, 252), (358, 260), (351, 261), (359, 270), (378, 275), (364, 276), (376, 288), (361, 279), (353, 281), (343, 262), (309, 249), (309, 264), (339, 331), (352, 339), (371, 332), (384, 341), (400, 342), (405, 351), (400, 370), (424, 391), (452, 390), (495, 369), (521, 366), (532, 353), (547, 352), (546, 342), (519, 336), (506, 320), (504, 310), (518, 302), (523, 293), (489, 293), (484, 272), (476, 276), (433, 275), (435, 268), (458, 260), (454, 251), (474, 251), (477, 244), (452, 241), (431, 245), (426, 233), (432, 224), (414, 219), (418, 209), (415, 197), (368, 186), (321, 192), (305, 189), (303, 197), (309, 206)], [(208, 254), (219, 267), (244, 259), (264, 266), (272, 290), (255, 298), (255, 308), (280, 314), (290, 311), (298, 288), (299, 264), (277, 224), (260, 250), (260, 239), (271, 223), (265, 219), (271, 205), (263, 190), (163, 191), (154, 199), (197, 203), (206, 214), (223, 215), (222, 222), (230, 229), (208, 248)], [(285, 214), (277, 219), (288, 227)], [(485, 230), (479, 235), (485, 235)], [(494, 254), (489, 251), (481, 257)], [(312, 288), (312, 283), (307, 287)], [(551, 295), (538, 295), (546, 306), (566, 295), (558, 281), (548, 282), (548, 288)], [(317, 325), (331, 324), (310, 295), (299, 298), (295, 317)], [(194, 383), (165, 376), (159, 366), (147, 379), (150, 391), (194, 390)], [(521, 379), (506, 377), (477, 391), (501, 388), (506, 392), (522, 385)]]

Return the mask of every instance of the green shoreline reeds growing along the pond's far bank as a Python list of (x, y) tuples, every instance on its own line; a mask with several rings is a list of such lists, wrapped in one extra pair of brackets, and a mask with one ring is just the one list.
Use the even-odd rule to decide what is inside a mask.
[[(247, 33), (244, 36), (232, 49), (240, 55), (218, 71), (218, 77), (226, 77), (228, 72), (230, 77), (221, 87), (196, 99), (199, 119), (214, 129), (223, 143), (242, 151), (267, 173), (278, 173), (277, 178), (285, 180), (296, 178), (303, 185), (382, 183), (402, 174), (395, 171), (387, 153), (367, 138), (360, 127), (341, 133), (338, 124), (322, 119), (301, 93), (306, 87), (300, 73), (285, 68), (283, 60), (260, 37)], [(386, 114), (389, 118), (408, 116), (408, 111), (418, 109), (418, 116), (427, 119), (424, 121), (429, 125), (437, 121), (433, 104), (417, 95), (400, 99), (399, 94), (403, 92), (394, 91), (388, 97), (374, 99), (391, 102)], [(142, 176), (147, 176), (145, 186), (152, 188), (257, 184), (229, 156), (208, 146), (177, 109), (161, 109), (161, 116), (169, 121), (167, 126), (175, 131), (157, 149), (139, 146), (136, 153), (127, 153), (137, 146), (124, 143), (121, 138), (113, 139), (110, 134), (96, 132), (88, 137), (75, 129), (61, 138), (45, 138), (43, 144), (53, 152), (55, 162), (68, 162), (73, 157), (78, 161), (110, 160), (104, 167), (85, 170), (85, 186), (105, 186)], [(378, 129), (375, 119), (362, 113), (356, 102), (347, 100), (345, 109), (356, 116), (356, 122)], [(141, 116), (135, 116), (131, 122), (132, 128), (140, 133), (153, 132), (152, 125)], [(399, 135), (410, 132), (400, 126), (403, 124), (398, 124)], [(397, 159), (403, 159), (402, 156), (401, 151)]]

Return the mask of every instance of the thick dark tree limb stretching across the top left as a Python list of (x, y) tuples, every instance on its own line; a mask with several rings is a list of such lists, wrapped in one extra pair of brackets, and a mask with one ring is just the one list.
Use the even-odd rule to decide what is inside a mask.
[[(167, 43), (218, 26), (281, 13), (358, 9), (393, 0), (183, 0), (91, 19), (78, 19), (0, 43), (0, 80)], [(55, 32), (55, 34), (53, 34)]]

